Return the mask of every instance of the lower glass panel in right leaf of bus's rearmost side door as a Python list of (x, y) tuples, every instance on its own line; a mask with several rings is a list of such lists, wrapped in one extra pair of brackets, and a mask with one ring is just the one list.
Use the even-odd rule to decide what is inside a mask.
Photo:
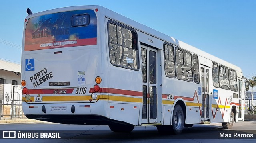
[(156, 119), (156, 87), (150, 86), (149, 90), (150, 119)]

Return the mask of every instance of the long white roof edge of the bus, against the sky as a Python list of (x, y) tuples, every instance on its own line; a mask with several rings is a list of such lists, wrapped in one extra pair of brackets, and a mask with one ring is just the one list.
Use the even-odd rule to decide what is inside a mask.
[[(52, 13), (56, 13), (56, 12), (65, 12), (65, 11), (72, 11), (72, 10), (82, 10), (82, 9), (96, 9), (98, 8), (98, 12), (102, 14), (104, 17), (110, 18), (112, 20), (115, 20), (121, 24), (124, 25), (128, 25), (129, 27), (132, 27), (133, 29), (136, 29), (137, 31), (140, 31), (142, 33), (146, 33), (148, 35), (151, 35), (153, 37), (156, 37), (158, 39), (161, 39), (162, 41), (168, 42), (168, 43), (172, 43), (178, 47), (181, 47), (182, 49), (188, 50), (191, 53), (196, 53), (196, 55), (205, 57), (207, 59), (210, 59), (211, 61), (215, 61), (216, 63), (225, 65), (229, 68), (235, 69), (238, 72), (242, 73), (242, 70), (240, 69), (240, 67), (237, 67), (236, 65), (233, 65), (231, 63), (228, 63), (227, 61), (224, 61), (218, 57), (215, 57), (209, 53), (206, 53), (196, 47), (193, 47), (191, 45), (188, 45), (187, 43), (184, 43), (178, 39), (175, 39), (173, 37), (170, 37), (164, 33), (161, 33), (159, 31), (156, 31), (146, 25), (140, 24), (134, 20), (131, 20), (130, 18), (127, 18), (125, 16), (122, 16), (121, 14), (118, 14), (112, 10), (109, 10), (107, 8), (104, 8), (102, 6), (97, 6), (97, 5), (92, 5), (92, 6), (71, 6), (71, 7), (65, 7), (65, 8), (57, 8), (57, 9), (52, 9), (52, 10), (46, 10), (43, 12), (38, 12), (35, 14), (29, 14), (26, 18), (31, 18), (34, 16), (40, 16), (43, 14), (52, 14)], [(24, 25), (25, 26), (25, 25)], [(162, 49), (163, 47), (161, 47)]]

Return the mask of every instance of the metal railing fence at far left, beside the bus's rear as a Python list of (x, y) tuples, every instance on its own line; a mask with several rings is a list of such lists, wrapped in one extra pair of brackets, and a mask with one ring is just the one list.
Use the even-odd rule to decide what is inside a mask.
[(0, 100), (0, 120), (3, 117), (23, 119), (21, 102), (21, 100)]

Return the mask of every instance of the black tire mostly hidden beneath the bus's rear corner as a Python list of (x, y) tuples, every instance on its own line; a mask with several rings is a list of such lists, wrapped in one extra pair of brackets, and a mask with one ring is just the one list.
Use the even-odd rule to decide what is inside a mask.
[(121, 133), (130, 133), (134, 129), (134, 125), (123, 125), (123, 124), (110, 124), (108, 125), (111, 131), (121, 132)]

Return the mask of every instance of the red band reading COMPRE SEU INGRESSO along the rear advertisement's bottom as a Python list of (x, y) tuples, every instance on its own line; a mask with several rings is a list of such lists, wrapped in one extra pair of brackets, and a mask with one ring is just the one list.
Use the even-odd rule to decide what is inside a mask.
[[(32, 45), (25, 45), (24, 51), (33, 51), (33, 50), (42, 50), (42, 49), (54, 49), (54, 48), (64, 48), (64, 47), (76, 47), (76, 46), (87, 46), (87, 45), (96, 45), (97, 38), (88, 38), (88, 39), (77, 39), (77, 40), (68, 40), (68, 41), (76, 41), (74, 44), (65, 44), (60, 46), (46, 46), (41, 47), (41, 44), (32, 44)], [(68, 41), (56, 41), (56, 42), (68, 42)], [(52, 43), (56, 43), (52, 42)]]

